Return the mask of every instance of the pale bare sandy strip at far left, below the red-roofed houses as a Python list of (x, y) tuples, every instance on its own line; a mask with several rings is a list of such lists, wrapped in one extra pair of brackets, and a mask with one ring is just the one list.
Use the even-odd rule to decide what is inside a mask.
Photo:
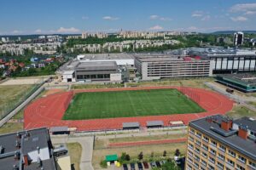
[(43, 78), (15, 78), (0, 83), (0, 86), (38, 84), (40, 82), (43, 82)]

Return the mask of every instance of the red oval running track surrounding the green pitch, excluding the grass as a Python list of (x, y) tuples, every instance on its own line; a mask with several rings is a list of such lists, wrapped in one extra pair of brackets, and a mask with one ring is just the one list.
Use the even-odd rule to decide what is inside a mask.
[(140, 89), (159, 89), (159, 88), (177, 88), (179, 87), (146, 87), (146, 88), (101, 88), (101, 89), (83, 89), (64, 92), (60, 94), (51, 94), (47, 97), (37, 99), (28, 105), (24, 113), (24, 128), (31, 129), (37, 127), (77, 127), (78, 131), (97, 131), (121, 129), (123, 122), (140, 122), (142, 127), (146, 127), (147, 121), (163, 121), (165, 126), (170, 126), (172, 121), (183, 121), (188, 124), (189, 121), (211, 116), (215, 114), (225, 114), (233, 107), (233, 101), (224, 95), (217, 94), (201, 88), (187, 88), (193, 94), (200, 98), (198, 105), (201, 105), (206, 112), (194, 114), (172, 114), (166, 116), (137, 116), (137, 117), (119, 117), (108, 119), (91, 119), (79, 121), (64, 121), (61, 117), (67, 110), (67, 106), (74, 93), (82, 92), (102, 92), (102, 91), (123, 91)]

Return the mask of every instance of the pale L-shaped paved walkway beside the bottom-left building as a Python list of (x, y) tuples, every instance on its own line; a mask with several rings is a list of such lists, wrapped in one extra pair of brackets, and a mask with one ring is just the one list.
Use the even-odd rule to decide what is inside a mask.
[(76, 143), (82, 146), (82, 156), (80, 160), (80, 170), (94, 170), (92, 167), (92, 152), (93, 152), (94, 137), (54, 137), (51, 136), (53, 144)]

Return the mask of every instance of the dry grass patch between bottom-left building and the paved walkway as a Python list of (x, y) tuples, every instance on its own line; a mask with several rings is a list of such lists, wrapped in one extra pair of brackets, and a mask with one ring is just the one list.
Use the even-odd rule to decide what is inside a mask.
[(80, 169), (80, 159), (82, 155), (82, 146), (79, 143), (67, 143), (68, 154), (70, 156), (70, 161), (72, 167), (75, 170)]

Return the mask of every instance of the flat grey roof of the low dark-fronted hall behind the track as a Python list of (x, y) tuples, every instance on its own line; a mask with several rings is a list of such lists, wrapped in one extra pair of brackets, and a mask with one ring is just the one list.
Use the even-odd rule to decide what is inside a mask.
[(117, 68), (115, 61), (86, 61), (80, 62), (76, 67), (76, 71), (117, 70)]

